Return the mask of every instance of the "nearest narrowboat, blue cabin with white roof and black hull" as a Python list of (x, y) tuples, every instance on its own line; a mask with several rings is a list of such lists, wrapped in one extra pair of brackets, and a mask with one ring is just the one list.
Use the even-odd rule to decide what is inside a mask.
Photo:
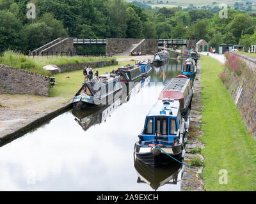
[(139, 141), (134, 145), (136, 159), (155, 167), (176, 163), (173, 158), (182, 159), (185, 154), (188, 126), (188, 119), (181, 116), (179, 101), (157, 101), (145, 119)]

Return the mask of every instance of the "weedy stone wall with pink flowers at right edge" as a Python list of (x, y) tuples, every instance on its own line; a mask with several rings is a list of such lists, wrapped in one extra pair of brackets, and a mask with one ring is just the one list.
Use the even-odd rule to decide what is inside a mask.
[(256, 138), (256, 69), (252, 61), (240, 55), (226, 52), (225, 57), (219, 77), (234, 99), (248, 132)]

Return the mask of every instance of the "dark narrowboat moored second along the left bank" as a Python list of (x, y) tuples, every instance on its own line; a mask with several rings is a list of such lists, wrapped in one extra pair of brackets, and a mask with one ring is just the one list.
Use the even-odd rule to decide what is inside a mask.
[(125, 84), (129, 82), (138, 82), (142, 78), (142, 73), (138, 65), (127, 65), (119, 67), (115, 73), (120, 75), (120, 81)]

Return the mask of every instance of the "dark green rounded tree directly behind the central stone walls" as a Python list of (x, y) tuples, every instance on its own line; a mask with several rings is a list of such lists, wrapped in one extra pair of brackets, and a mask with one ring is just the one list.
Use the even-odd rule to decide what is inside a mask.
[(127, 38), (143, 38), (143, 26), (140, 20), (140, 17), (133, 10), (133, 8), (127, 8)]

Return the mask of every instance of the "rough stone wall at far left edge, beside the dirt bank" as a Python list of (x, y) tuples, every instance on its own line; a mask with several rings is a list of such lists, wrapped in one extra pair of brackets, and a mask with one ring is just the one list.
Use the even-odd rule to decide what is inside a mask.
[(49, 96), (49, 77), (0, 64), (0, 93)]

